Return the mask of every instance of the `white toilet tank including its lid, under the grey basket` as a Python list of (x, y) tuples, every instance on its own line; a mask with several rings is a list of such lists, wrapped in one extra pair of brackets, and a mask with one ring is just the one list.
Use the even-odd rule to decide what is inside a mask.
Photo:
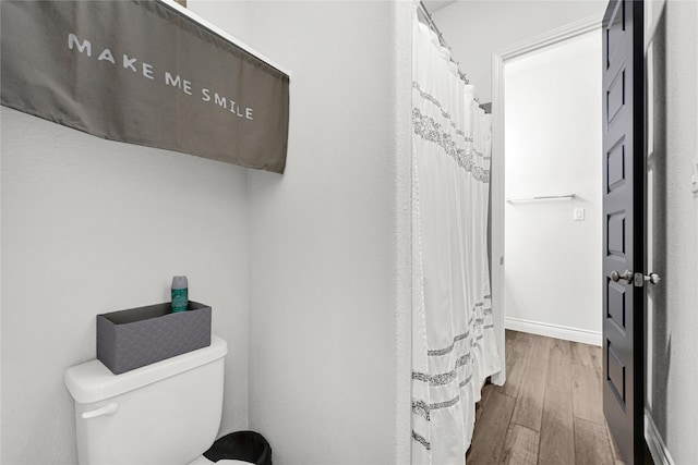
[(113, 375), (99, 360), (65, 371), (81, 465), (184, 465), (215, 441), (226, 342)]

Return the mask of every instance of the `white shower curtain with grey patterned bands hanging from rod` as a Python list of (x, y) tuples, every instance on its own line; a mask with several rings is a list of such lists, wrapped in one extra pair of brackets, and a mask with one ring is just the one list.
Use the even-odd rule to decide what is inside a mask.
[[(417, 3), (416, 3), (417, 4)], [(488, 266), (491, 120), (414, 14), (412, 464), (462, 465), (498, 372)]]

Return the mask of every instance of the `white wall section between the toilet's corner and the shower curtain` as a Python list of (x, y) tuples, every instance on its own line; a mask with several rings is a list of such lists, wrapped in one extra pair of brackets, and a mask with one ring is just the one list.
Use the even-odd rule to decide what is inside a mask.
[(409, 145), (396, 138), (410, 121), (398, 136), (395, 88), (411, 69), (395, 49), (409, 14), (395, 24), (409, 2), (249, 2), (244, 16), (234, 3), (190, 8), (291, 73), (286, 172), (248, 178), (250, 427), (280, 465), (405, 463), (396, 163), (409, 173)]

